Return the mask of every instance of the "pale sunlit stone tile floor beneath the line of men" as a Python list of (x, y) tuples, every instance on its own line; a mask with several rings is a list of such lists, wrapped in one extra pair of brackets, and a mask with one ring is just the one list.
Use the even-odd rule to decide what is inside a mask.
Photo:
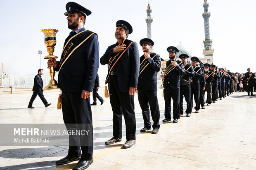
[[(48, 108), (37, 97), (35, 109), (27, 108), (32, 93), (0, 95), (0, 123), (63, 123), (62, 111), (56, 109), (58, 93), (44, 93), (52, 103)], [(100, 89), (99, 94), (103, 96), (104, 90)], [(109, 98), (102, 106), (100, 102), (92, 106), (94, 162), (89, 170), (256, 170), (256, 97), (235, 92), (198, 114), (193, 109), (191, 117), (184, 115), (177, 124), (163, 124), (162, 90), (158, 94), (161, 128), (154, 135), (150, 131), (140, 133), (143, 118), (135, 95), (137, 136), (136, 145), (130, 149), (121, 149), (126, 141), (124, 121), (122, 142), (104, 145), (112, 137), (113, 128)], [(55, 165), (66, 156), (67, 149), (0, 146), (0, 170), (70, 170), (77, 161)]]

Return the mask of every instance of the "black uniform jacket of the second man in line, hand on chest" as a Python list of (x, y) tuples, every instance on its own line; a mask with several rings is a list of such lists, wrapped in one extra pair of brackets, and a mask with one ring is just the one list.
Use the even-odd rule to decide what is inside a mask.
[[(126, 44), (126, 48), (129, 44)], [(113, 49), (118, 46), (118, 43), (109, 46), (100, 58), (100, 64), (108, 64), (109, 59), (116, 55)], [(118, 86), (121, 92), (129, 92), (129, 87), (137, 88), (139, 69), (140, 69), (140, 55), (137, 43), (133, 42), (130, 47), (126, 50), (121, 58), (116, 62), (116, 72)], [(111, 76), (109, 76), (109, 80)], [(111, 83), (109, 81), (109, 89), (111, 88)]]

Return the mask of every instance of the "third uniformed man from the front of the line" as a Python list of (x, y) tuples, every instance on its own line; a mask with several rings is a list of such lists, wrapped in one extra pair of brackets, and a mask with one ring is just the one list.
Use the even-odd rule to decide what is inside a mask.
[(145, 132), (151, 129), (150, 106), (150, 112), (154, 122), (152, 134), (155, 134), (158, 133), (160, 128), (160, 110), (157, 101), (157, 72), (161, 68), (161, 58), (160, 55), (151, 53), (151, 47), (154, 45), (151, 39), (144, 38), (140, 40), (140, 45), (144, 52), (140, 57), (140, 73), (137, 86), (138, 99), (144, 120), (144, 127), (140, 131)]

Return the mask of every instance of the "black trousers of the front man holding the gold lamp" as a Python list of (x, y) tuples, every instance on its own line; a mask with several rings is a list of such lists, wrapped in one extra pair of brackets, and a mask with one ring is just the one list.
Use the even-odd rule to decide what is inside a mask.
[(81, 159), (91, 160), (93, 152), (93, 127), (90, 97), (82, 99), (81, 93), (62, 91), (62, 113), (67, 130), (89, 130), (88, 136), (69, 136), (68, 155), (78, 156), (82, 150)]

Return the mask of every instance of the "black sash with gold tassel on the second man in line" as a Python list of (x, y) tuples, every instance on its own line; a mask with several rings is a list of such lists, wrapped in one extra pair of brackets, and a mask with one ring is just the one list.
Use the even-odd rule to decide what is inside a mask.
[(114, 65), (116, 64), (116, 62), (118, 62), (118, 60), (120, 59), (120, 57), (122, 57), (123, 53), (126, 52), (126, 50), (130, 47), (131, 44), (133, 44), (133, 41), (130, 41), (128, 39), (123, 40), (123, 44), (129, 44), (125, 50), (123, 51), (119, 51), (116, 55), (114, 55), (113, 57), (110, 57), (109, 59), (109, 63), (108, 63), (108, 74), (107, 74), (107, 78), (105, 80), (105, 98), (109, 97), (109, 92), (107, 90), (107, 83), (109, 83), (109, 76), (110, 76), (110, 72), (113, 69)]

